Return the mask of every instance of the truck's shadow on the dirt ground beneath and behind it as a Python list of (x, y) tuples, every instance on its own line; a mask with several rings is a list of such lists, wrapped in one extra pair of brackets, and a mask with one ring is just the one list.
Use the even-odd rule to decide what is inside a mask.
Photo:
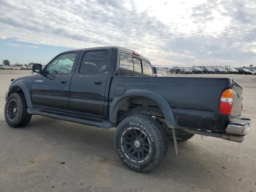
[[(33, 116), (30, 124), (24, 127), (24, 132), (36, 135), (37, 138), (52, 143), (55, 146), (72, 150), (82, 156), (97, 156), (100, 163), (121, 168), (122, 172), (138, 174), (126, 168), (118, 158), (114, 149), (115, 128), (103, 130), (91, 126), (55, 120), (46, 117)], [(199, 140), (199, 141), (198, 141)], [(203, 146), (200, 136), (178, 143), (178, 156), (175, 156), (174, 144), (168, 140), (168, 152), (160, 166), (146, 173), (157, 178), (170, 178), (180, 182), (205, 186), (211, 183), (219, 186), (220, 180), (228, 183), (225, 167), (226, 155), (218, 154)], [(212, 141), (210, 141), (212, 142)], [(201, 145), (202, 144), (202, 145)], [(212, 145), (212, 144), (210, 144)], [(228, 162), (228, 168), (236, 169), (234, 162)], [(111, 168), (110, 168), (111, 169)], [(111, 172), (111, 170), (109, 170)]]

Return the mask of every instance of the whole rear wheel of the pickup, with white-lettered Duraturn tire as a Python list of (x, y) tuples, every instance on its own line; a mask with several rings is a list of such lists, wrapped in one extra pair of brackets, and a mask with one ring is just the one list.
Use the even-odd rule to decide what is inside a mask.
[[(130, 139), (130, 144), (126, 144), (126, 142), (129, 142), (126, 138), (132, 136), (131, 132), (137, 132), (137, 134), (135, 134), (134, 140)], [(140, 139), (140, 135), (144, 138)], [(136, 136), (138, 136), (137, 140)], [(136, 146), (138, 140), (142, 140), (139, 146), (143, 147), (145, 144), (148, 147), (148, 153), (142, 156), (138, 152), (135, 152), (137, 154), (137, 157), (135, 157), (135, 154), (132, 156), (132, 153), (140, 150)], [(147, 143), (144, 143), (144, 140)], [(160, 164), (168, 149), (164, 128), (155, 119), (146, 115), (129, 116), (118, 124), (115, 133), (115, 147), (122, 162), (128, 168), (137, 172), (149, 172), (154, 169)], [(130, 149), (130, 147), (134, 149), (128, 152), (128, 148)], [(141, 154), (145, 152), (143, 149), (141, 151), (139, 152)], [(138, 160), (139, 156), (143, 158)]]

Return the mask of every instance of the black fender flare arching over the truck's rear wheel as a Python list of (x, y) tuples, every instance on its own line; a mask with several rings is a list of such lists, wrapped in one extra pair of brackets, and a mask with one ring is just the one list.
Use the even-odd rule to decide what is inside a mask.
[(136, 96), (145, 97), (156, 102), (156, 104), (158, 104), (158, 106), (162, 110), (167, 126), (169, 128), (178, 128), (172, 113), (172, 108), (170, 107), (168, 102), (166, 102), (166, 100), (157, 93), (139, 89), (128, 90), (125, 92), (124, 95), (114, 98), (109, 110), (110, 122), (116, 123), (118, 107), (123, 104), (122, 101)]

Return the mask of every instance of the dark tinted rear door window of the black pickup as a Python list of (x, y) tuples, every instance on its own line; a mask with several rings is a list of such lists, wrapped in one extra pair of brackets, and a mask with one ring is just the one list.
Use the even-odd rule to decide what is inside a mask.
[(88, 51), (85, 52), (79, 69), (79, 74), (93, 75), (106, 70), (108, 63), (108, 51)]

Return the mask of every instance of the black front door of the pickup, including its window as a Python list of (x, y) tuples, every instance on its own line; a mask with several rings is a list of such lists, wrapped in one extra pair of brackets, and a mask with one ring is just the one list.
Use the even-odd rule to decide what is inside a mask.
[(32, 82), (31, 98), (36, 107), (69, 110), (69, 86), (74, 74), (78, 52), (54, 58)]

